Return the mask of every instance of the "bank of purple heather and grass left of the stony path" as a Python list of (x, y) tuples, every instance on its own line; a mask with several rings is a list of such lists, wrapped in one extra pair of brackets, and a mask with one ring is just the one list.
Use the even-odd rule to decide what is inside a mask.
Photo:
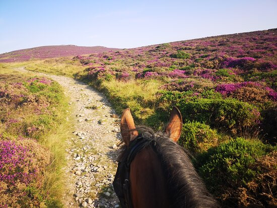
[(61, 87), (44, 77), (1, 70), (0, 206), (60, 206), (62, 150), (54, 146), (62, 148), (64, 138), (53, 138), (64, 123)]

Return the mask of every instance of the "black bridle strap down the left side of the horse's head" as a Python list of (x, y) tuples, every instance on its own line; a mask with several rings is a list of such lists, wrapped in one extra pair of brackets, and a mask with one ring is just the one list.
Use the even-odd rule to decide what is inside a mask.
[(123, 159), (118, 162), (117, 171), (113, 181), (113, 188), (119, 198), (122, 208), (132, 208), (131, 190), (130, 190), (130, 165), (137, 153), (146, 146), (155, 146), (156, 141), (153, 138), (145, 138), (141, 134), (130, 142), (127, 152)]

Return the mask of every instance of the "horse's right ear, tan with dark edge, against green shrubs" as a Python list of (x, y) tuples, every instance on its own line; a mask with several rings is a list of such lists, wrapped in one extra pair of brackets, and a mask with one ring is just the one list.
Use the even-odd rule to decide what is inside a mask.
[(182, 115), (179, 109), (174, 106), (170, 114), (169, 123), (165, 129), (165, 132), (169, 134), (169, 138), (171, 138), (174, 142), (179, 140), (182, 132), (182, 125)]

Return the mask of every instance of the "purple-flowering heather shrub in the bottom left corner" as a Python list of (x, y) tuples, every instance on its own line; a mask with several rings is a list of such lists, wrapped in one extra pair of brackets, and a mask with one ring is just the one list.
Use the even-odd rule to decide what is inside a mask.
[(39, 206), (39, 200), (28, 197), (28, 187), (42, 186), (49, 163), (49, 152), (34, 140), (0, 141), (0, 206)]

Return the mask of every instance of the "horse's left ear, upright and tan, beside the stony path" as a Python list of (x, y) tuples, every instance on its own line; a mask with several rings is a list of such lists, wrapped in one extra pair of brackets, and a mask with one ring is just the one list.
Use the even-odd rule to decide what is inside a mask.
[(129, 146), (129, 142), (138, 135), (138, 132), (133, 129), (135, 129), (133, 117), (131, 115), (130, 109), (127, 108), (123, 111), (120, 122), (120, 132), (123, 141), (127, 146)]

